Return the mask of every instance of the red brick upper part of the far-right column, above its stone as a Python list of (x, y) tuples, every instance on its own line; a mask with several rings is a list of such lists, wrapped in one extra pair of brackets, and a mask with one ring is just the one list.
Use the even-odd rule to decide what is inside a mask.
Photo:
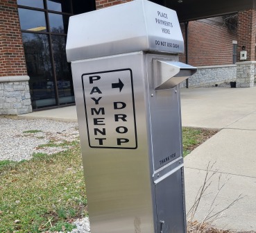
[(256, 11), (240, 11), (237, 24), (237, 61), (240, 60), (242, 46), (246, 46), (247, 60), (255, 60)]

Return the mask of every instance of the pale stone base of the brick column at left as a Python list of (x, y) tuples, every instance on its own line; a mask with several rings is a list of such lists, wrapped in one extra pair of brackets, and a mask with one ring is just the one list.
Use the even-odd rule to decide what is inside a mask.
[(28, 76), (0, 77), (0, 115), (32, 112)]

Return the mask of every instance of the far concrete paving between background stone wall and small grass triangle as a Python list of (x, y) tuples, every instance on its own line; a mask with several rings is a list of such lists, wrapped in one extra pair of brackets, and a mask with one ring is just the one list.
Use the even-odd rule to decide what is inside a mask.
[(250, 129), (256, 114), (256, 87), (182, 89), (181, 110), (183, 126)]

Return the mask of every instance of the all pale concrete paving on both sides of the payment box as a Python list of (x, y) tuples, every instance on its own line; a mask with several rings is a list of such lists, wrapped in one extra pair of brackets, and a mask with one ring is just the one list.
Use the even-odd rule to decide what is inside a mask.
[[(245, 197), (226, 210), (226, 217), (219, 219), (216, 226), (256, 231), (256, 87), (182, 89), (181, 109), (182, 126), (221, 130), (185, 157), (187, 209), (203, 184), (207, 164), (215, 162), (212, 170), (218, 169), (218, 172), (195, 219), (200, 221), (205, 217), (218, 191), (221, 175), (221, 184), (228, 181), (212, 213), (228, 206), (240, 194)], [(77, 121), (75, 106), (19, 117)]]

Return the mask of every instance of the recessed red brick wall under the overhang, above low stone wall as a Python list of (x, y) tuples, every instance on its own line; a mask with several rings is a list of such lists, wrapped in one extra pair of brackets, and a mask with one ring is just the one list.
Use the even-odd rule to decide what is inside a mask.
[[(185, 38), (185, 25), (181, 24), (181, 28)], [(188, 63), (194, 66), (232, 64), (232, 40), (237, 40), (237, 35), (230, 33), (225, 26), (189, 21)], [(185, 62), (185, 53), (180, 54), (180, 60)]]

